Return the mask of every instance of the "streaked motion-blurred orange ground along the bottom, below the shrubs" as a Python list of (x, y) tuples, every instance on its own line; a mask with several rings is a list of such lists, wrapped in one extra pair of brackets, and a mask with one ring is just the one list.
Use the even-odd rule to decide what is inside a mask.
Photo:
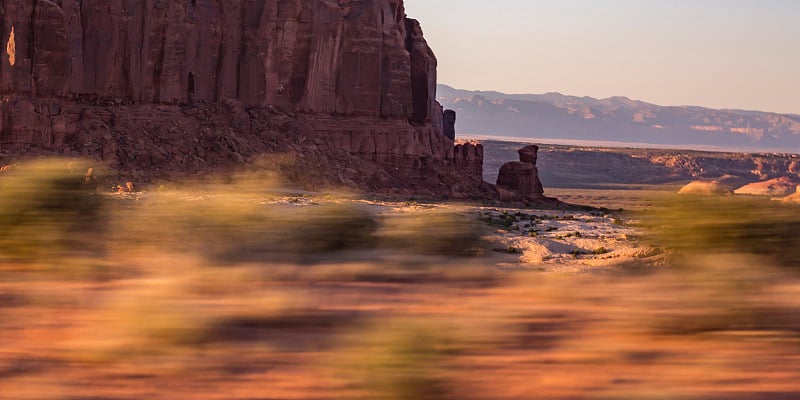
[[(135, 323), (119, 319), (133, 317), (109, 312), (109, 302), (121, 301), (117, 297), (126, 290), (139, 288), (146, 297), (152, 282), (5, 283), (0, 395), (788, 399), (800, 393), (796, 280), (740, 297), (713, 281), (686, 282), (670, 274), (376, 273), (358, 282), (315, 277), (314, 269), (280, 282), (250, 281), (253, 293), (226, 294), (232, 300), (213, 291), (187, 297), (170, 292), (155, 300), (163, 301), (155, 315), (137, 317), (175, 313), (180, 329), (182, 318), (229, 316), (202, 326), (200, 337), (186, 342), (128, 337), (131, 332), (119, 325)], [(34, 290), (39, 294), (23, 294)], [(280, 313), (238, 316), (274, 296), (301, 300)], [(392, 335), (408, 335), (410, 342), (390, 350), (372, 343)], [(417, 354), (413, 341), (429, 339), (432, 355)], [(411, 382), (410, 390), (438, 385), (443, 392), (393, 397), (365, 391), (371, 388), (365, 380), (392, 379)]]

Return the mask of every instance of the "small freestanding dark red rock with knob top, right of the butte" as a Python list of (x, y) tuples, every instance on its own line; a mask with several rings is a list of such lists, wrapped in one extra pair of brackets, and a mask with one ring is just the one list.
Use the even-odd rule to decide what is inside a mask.
[(506, 163), (500, 168), (497, 186), (515, 193), (522, 200), (544, 199), (544, 188), (536, 168), (538, 151), (539, 147), (535, 145), (520, 149), (520, 161)]

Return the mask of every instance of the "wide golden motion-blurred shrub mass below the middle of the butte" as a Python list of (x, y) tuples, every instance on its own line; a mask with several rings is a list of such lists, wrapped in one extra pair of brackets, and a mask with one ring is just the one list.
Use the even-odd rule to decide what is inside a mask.
[(366, 248), (376, 229), (372, 217), (353, 206), (264, 205), (235, 192), (202, 198), (159, 193), (128, 214), (122, 219), (133, 222), (124, 241), (198, 252), (217, 262), (297, 261)]

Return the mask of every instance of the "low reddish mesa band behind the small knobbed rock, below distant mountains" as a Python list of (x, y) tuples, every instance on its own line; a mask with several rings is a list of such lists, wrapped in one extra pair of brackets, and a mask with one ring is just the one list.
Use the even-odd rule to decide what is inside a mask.
[[(459, 115), (460, 118), (460, 115)], [(500, 167), (516, 159), (521, 142), (482, 140), (484, 177), (497, 180)], [(720, 153), (691, 150), (539, 145), (539, 179), (553, 188), (619, 188), (620, 185), (684, 185), (718, 181), (731, 189), (789, 176), (800, 178), (796, 154)]]

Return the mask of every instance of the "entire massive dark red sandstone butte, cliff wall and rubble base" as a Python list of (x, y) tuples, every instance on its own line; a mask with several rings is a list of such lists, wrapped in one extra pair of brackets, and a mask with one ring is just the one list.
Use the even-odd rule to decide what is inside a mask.
[(498, 197), (482, 146), (445, 127), (436, 57), (402, 0), (3, 0), (0, 13), (0, 164), (84, 156), (153, 181), (262, 159), (312, 187)]

